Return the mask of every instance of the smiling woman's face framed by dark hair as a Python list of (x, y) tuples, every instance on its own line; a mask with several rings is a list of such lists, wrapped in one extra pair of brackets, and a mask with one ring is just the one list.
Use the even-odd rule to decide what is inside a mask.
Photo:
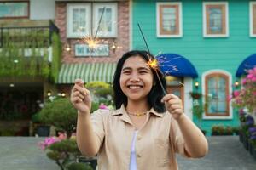
[(120, 87), (128, 100), (143, 100), (153, 86), (153, 73), (140, 56), (125, 60), (120, 76)]

